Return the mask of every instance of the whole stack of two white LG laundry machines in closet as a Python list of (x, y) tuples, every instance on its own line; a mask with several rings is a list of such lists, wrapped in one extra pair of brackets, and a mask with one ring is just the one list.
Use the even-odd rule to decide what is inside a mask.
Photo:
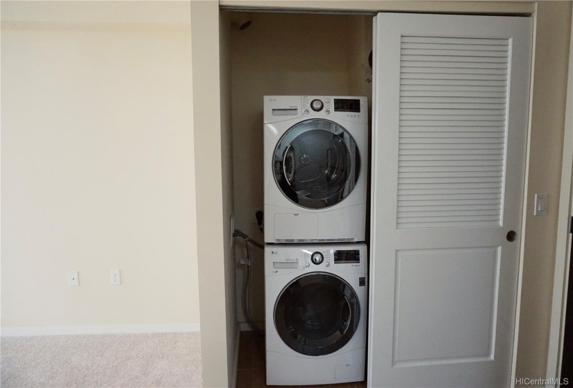
[(268, 385), (364, 379), (367, 98), (265, 96)]

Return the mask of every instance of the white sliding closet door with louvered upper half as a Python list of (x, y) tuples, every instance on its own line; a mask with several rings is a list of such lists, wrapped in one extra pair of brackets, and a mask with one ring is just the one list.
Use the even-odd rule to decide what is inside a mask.
[(532, 28), (375, 19), (369, 387), (510, 386)]

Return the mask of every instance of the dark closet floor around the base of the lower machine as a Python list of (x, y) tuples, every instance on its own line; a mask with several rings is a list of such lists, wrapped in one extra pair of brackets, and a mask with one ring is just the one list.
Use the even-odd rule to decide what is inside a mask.
[[(278, 387), (267, 385), (265, 371), (265, 336), (254, 331), (242, 331), (239, 344), (239, 364), (237, 371), (237, 388)], [(366, 382), (347, 382), (331, 385), (289, 385), (288, 388), (366, 388)], [(285, 387), (286, 388), (286, 387)]]

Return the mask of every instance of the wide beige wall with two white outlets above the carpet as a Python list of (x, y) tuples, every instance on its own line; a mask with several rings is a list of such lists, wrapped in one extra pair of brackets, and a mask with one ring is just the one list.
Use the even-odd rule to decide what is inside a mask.
[(2, 330), (198, 326), (189, 8), (2, 1)]

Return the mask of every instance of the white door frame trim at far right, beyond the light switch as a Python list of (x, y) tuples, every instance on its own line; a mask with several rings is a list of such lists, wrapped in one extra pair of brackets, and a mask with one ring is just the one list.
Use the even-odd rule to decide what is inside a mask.
[[(572, 15), (573, 21), (573, 15)], [(571, 237), (568, 231), (570, 215), (573, 215), (573, 29), (569, 51), (569, 80), (567, 80), (567, 105), (565, 111), (565, 135), (563, 138), (563, 165), (561, 167), (561, 191), (557, 222), (557, 246), (555, 251), (555, 273), (553, 280), (553, 301), (551, 303), (551, 325), (549, 327), (549, 351), (547, 353), (547, 378), (558, 378), (561, 374), (563, 355), (563, 333), (565, 331), (565, 310), (567, 307), (567, 285)], [(571, 249), (571, 248), (570, 248)]]

